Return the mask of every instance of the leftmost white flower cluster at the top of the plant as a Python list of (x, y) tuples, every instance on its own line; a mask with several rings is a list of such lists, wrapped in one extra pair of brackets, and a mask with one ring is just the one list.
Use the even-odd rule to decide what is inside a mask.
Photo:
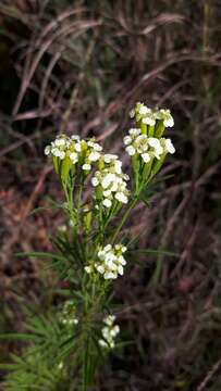
[(91, 164), (100, 159), (102, 147), (95, 139), (83, 140), (77, 135), (67, 137), (59, 135), (54, 141), (45, 149), (46, 155), (52, 155), (63, 160), (69, 157), (73, 164), (81, 162), (84, 171), (90, 171)]

